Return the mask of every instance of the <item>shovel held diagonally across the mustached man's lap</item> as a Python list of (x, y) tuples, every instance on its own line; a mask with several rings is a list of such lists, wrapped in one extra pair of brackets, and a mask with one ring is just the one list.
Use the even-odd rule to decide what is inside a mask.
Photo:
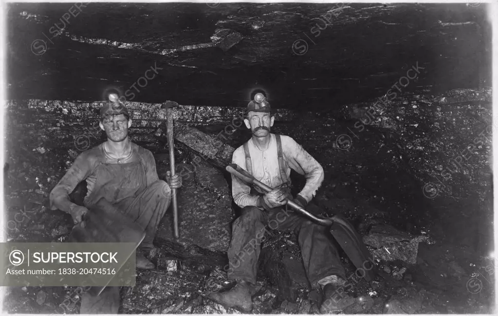
[[(273, 190), (266, 184), (256, 180), (248, 171), (241, 168), (237, 163), (228, 165), (226, 169), (228, 172), (241, 178), (249, 185), (252, 184), (257, 186), (265, 192)], [(348, 258), (353, 262), (357, 268), (357, 272), (358, 270), (363, 271), (364, 275), (361, 277), (365, 278), (365, 280), (369, 282), (374, 280), (376, 267), (375, 262), (373, 261), (373, 256), (363, 243), (362, 237), (358, 234), (351, 223), (339, 215), (334, 215), (332, 218), (317, 217), (291, 200), (287, 201), (287, 205), (313, 222), (322, 226), (330, 227), (332, 236), (334, 236)]]

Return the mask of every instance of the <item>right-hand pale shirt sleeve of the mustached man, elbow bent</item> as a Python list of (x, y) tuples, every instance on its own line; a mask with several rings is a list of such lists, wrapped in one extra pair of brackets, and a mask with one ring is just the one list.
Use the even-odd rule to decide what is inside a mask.
[(316, 195), (316, 191), (322, 185), (324, 178), (323, 167), (292, 138), (281, 136), (281, 139), (285, 160), (294, 171), (303, 174), (306, 177), (306, 184), (301, 192), (299, 192), (299, 195), (309, 202), (313, 199)]

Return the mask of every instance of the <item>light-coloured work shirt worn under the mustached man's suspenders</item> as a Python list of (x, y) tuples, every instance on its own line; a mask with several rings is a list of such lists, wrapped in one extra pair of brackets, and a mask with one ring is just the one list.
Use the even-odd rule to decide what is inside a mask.
[[(253, 139), (249, 140), (249, 153), (251, 159), (252, 176), (263, 182), (271, 188), (279, 187), (284, 184), (280, 176), (278, 166), (277, 142), (275, 134), (270, 134), (270, 144), (265, 151), (259, 150)], [(309, 202), (316, 194), (316, 191), (323, 182), (323, 168), (310, 154), (308, 154), (301, 145), (297, 144), (292, 138), (281, 135), (282, 153), (287, 167), (285, 172), (290, 185), (290, 169), (306, 177), (306, 184), (299, 195)], [(247, 170), (246, 154), (244, 146), (235, 150), (232, 156), (232, 163), (237, 163), (240, 167)], [(264, 193), (259, 188), (255, 188), (260, 193)], [(235, 203), (240, 207), (256, 206), (256, 195), (250, 194), (250, 186), (235, 175), (232, 175), (232, 195)]]

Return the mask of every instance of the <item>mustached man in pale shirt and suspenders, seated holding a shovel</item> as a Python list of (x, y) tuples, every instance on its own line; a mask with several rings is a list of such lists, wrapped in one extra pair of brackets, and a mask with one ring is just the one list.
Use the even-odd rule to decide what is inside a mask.
[[(329, 228), (315, 224), (285, 206), (290, 199), (305, 207), (322, 184), (323, 168), (292, 138), (271, 134), (274, 116), (271, 116), (270, 105), (262, 94), (254, 99), (248, 104), (244, 120), (252, 137), (234, 152), (232, 162), (274, 189), (264, 193), (232, 175), (233, 198), (242, 208), (242, 215), (233, 224), (228, 277), (238, 282), (232, 290), (211, 293), (209, 298), (226, 307), (246, 313), (251, 311), (251, 286), (256, 283), (260, 242), (266, 230), (278, 229), (297, 235), (308, 280), (313, 286), (323, 288), (321, 313), (341, 311), (355, 303), (355, 299), (344, 293), (339, 299), (334, 297), (346, 276)], [(290, 193), (291, 168), (306, 177), (306, 184), (296, 198)]]

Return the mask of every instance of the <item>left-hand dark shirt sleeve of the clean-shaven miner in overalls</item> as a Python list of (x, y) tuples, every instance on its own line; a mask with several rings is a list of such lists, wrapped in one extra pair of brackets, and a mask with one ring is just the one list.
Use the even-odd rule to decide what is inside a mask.
[(50, 192), (50, 209), (60, 209), (69, 213), (71, 206), (74, 204), (71, 202), (69, 194), (73, 192), (78, 183), (92, 174), (94, 163), (95, 159), (91, 159), (86, 152), (81, 153), (76, 158), (73, 165)]

